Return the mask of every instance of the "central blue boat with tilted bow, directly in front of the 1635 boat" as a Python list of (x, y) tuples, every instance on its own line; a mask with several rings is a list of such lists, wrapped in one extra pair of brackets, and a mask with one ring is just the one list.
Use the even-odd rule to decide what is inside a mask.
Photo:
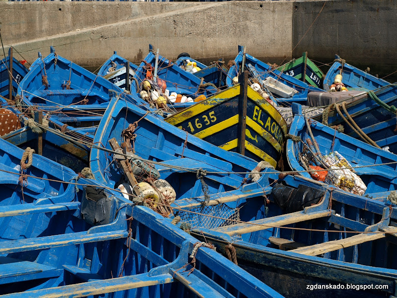
[[(136, 127), (130, 126), (136, 121)], [(128, 137), (122, 138), (123, 131), (135, 135), (134, 141), (128, 140)], [(177, 199), (205, 191), (217, 193), (236, 189), (243, 183), (246, 173), (257, 165), (251, 158), (202, 141), (115, 97), (94, 138), (94, 144), (100, 144), (101, 148), (93, 148), (90, 154), (90, 167), (95, 179), (111, 188), (119, 185), (125, 173), (113, 161), (114, 154), (105, 154), (103, 151), (112, 149), (109, 141), (113, 138), (119, 146), (123, 142), (130, 142), (125, 151), (133, 153), (133, 148), (133, 158), (162, 162), (151, 164), (148, 161), (150, 167), (159, 171), (160, 178), (167, 180), (175, 189)], [(198, 176), (202, 175), (202, 171), (207, 171), (203, 180)], [(203, 187), (207, 187), (207, 190)]]

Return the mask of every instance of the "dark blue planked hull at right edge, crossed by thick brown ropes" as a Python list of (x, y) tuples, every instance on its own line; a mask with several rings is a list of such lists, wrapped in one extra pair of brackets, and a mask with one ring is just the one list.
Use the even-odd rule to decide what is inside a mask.
[[(388, 84), (374, 90), (374, 93), (379, 98), (379, 101), (386, 105), (397, 105), (397, 86)], [(396, 116), (390, 109), (379, 105), (368, 93), (345, 103), (345, 107), (353, 121), (371, 140), (377, 143), (379, 147), (388, 146), (391, 152), (397, 153)], [(341, 107), (339, 107), (339, 110), (347, 118)], [(321, 121), (320, 116), (314, 119)], [(338, 124), (343, 125), (345, 134), (362, 140), (332, 107), (328, 117), (328, 125)]]

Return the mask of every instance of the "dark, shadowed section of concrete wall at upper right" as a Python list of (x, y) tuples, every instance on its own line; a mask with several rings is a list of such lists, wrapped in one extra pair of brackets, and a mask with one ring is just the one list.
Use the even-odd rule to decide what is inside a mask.
[(328, 62), (338, 54), (363, 70), (370, 67), (370, 74), (397, 70), (396, 0), (296, 1), (293, 5), (294, 57), (308, 51), (309, 58)]

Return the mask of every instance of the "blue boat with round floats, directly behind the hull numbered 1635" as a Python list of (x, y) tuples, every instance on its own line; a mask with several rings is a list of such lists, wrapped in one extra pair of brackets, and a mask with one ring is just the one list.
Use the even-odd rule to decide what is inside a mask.
[[(139, 91), (143, 80), (145, 80), (145, 78), (152, 79), (155, 75), (155, 64), (156, 53), (154, 52), (152, 45), (149, 45), (149, 54), (135, 71), (137, 82), (139, 83)], [(192, 98), (191, 102), (175, 102), (172, 105), (172, 107), (177, 107), (179, 109), (193, 105), (193, 100), (199, 97), (199, 95), (208, 97), (210, 94), (217, 91), (216, 86), (211, 85), (211, 83), (201, 81), (201, 79), (194, 74), (184, 71), (161, 55), (158, 56), (157, 77), (166, 83), (166, 89), (169, 90), (170, 94), (172, 92), (176, 92), (177, 94), (186, 95), (187, 97)], [(137, 88), (135, 82), (132, 82), (131, 88)]]

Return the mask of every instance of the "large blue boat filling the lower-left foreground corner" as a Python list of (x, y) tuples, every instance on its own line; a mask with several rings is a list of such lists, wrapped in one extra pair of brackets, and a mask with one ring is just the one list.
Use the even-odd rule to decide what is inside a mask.
[(1, 294), (282, 298), (170, 220), (42, 156), (28, 158), (22, 191), (23, 153), (0, 140)]

